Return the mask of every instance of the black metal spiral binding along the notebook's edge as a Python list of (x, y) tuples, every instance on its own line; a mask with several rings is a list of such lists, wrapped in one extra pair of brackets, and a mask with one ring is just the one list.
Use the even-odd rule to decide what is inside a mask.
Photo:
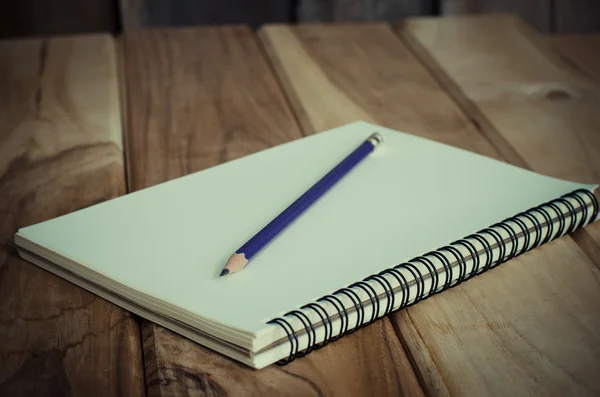
[[(586, 203), (582, 196), (587, 197), (590, 202)], [(575, 208), (569, 199), (577, 202), (578, 207)], [(567, 211), (561, 210), (559, 204), (564, 205), (567, 208)], [(591, 216), (588, 217), (588, 207), (590, 205), (592, 206), (592, 213)], [(277, 324), (280, 326), (285, 331), (290, 344), (290, 353), (288, 357), (279, 360), (277, 364), (286, 365), (297, 357), (303, 357), (314, 350), (321, 349), (330, 342), (333, 342), (344, 335), (351, 334), (362, 327), (368, 326), (377, 319), (387, 316), (391, 312), (396, 312), (408, 306), (412, 306), (434, 294), (455, 287), (465, 280), (482, 274), (512, 258), (546, 244), (553, 239), (562, 237), (565, 234), (569, 234), (574, 230), (584, 227), (596, 219), (598, 211), (598, 200), (590, 191), (585, 189), (575, 190), (550, 202), (507, 218), (504, 221), (491, 225), (490, 227), (482, 229), (465, 238), (456, 240), (435, 251), (413, 258), (410, 261), (396, 265), (393, 268), (385, 269), (378, 274), (370, 275), (362, 281), (341, 288), (332, 294), (325, 295), (317, 299), (316, 302), (306, 304), (302, 306), (300, 310), (287, 312), (283, 316), (268, 322), (268, 324)], [(579, 222), (577, 222), (579, 212), (581, 212), (582, 215)], [(536, 215), (539, 215), (544, 219), (543, 223), (539, 221)], [(558, 219), (557, 230), (555, 230), (556, 219)], [(527, 227), (526, 222), (529, 222), (532, 227)], [(568, 228), (567, 224), (569, 225)], [(544, 228), (546, 229), (546, 233), (542, 236)], [(507, 239), (502, 237), (500, 230), (507, 234)], [(493, 243), (490, 243), (488, 238), (492, 240)], [(531, 244), (532, 239), (533, 244)], [(521, 242), (523, 246), (518, 250), (518, 246)], [(475, 243), (481, 245), (480, 250), (476, 248)], [(508, 246), (510, 246), (510, 250), (507, 253)], [(465, 257), (458, 247), (461, 247), (468, 252), (468, 256)], [(499, 251), (497, 258), (493, 257), (495, 247)], [(479, 254), (480, 251), (481, 254)], [(451, 256), (454, 261), (451, 262), (445, 254)], [(485, 263), (482, 263), (481, 258), (483, 258), (484, 255), (486, 260)], [(433, 260), (441, 262), (443, 270), (440, 269), (441, 271), (438, 271)], [(473, 261), (473, 268), (467, 274), (467, 263), (469, 260)], [(456, 263), (458, 266), (453, 267), (452, 263)], [(420, 270), (416, 264), (420, 264), (426, 271), (423, 272)], [(407, 274), (410, 274), (414, 279), (416, 295), (412, 302), (410, 302), (411, 282), (407, 280), (405, 274), (403, 274), (401, 270), (406, 271)], [(453, 282), (452, 280), (455, 271), (458, 271), (458, 277)], [(445, 281), (442, 283), (440, 282), (440, 275), (443, 275), (445, 278)], [(397, 283), (395, 288), (386, 276), (389, 276)], [(425, 291), (426, 279), (431, 280), (431, 287), (429, 288), (428, 293)], [(381, 296), (380, 298), (377, 291), (369, 282), (376, 283), (383, 290), (382, 295), (385, 295), (387, 303), (382, 313), (380, 313), (380, 303), (384, 297)], [(373, 308), (372, 314), (368, 319), (365, 319), (365, 304), (356, 293), (357, 290), (360, 290), (367, 295), (368, 299), (365, 303), (370, 303)], [(402, 296), (402, 301), (396, 308), (394, 308), (396, 304), (395, 290), (399, 291), (400, 296)], [(350, 307), (346, 307), (342, 303), (340, 300), (340, 297), (342, 296), (348, 298), (349, 301), (352, 302)], [(333, 306), (337, 313), (333, 315), (329, 314), (322, 305), (325, 302)], [(309, 310), (316, 313), (317, 317), (320, 319), (318, 325), (314, 324), (309, 316), (306, 315), (305, 311)], [(350, 324), (349, 311), (356, 312), (356, 321), (353, 322), (353, 324)], [(299, 330), (294, 329), (290, 321), (286, 319), (292, 317), (298, 319), (302, 324)], [(340, 319), (340, 327), (337, 332), (333, 329), (333, 317)], [(322, 326), (324, 329), (324, 339), (321, 343), (317, 343), (317, 332), (315, 328), (318, 326)], [(302, 350), (299, 349), (298, 334), (306, 334), (308, 337), (307, 346)]]

